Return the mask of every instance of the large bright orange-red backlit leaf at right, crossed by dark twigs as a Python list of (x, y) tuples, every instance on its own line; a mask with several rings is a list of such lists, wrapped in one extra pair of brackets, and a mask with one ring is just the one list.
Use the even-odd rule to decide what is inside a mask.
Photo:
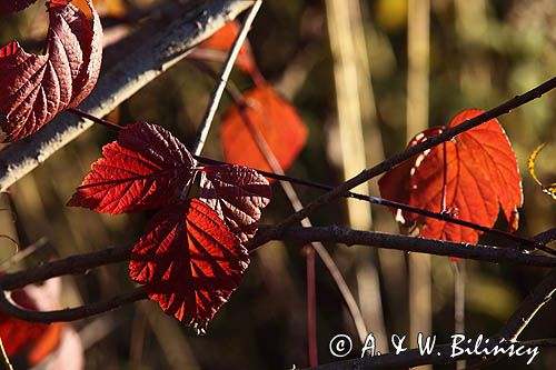
[[(483, 111), (468, 109), (458, 113), (448, 127), (458, 126)], [(424, 131), (409, 147), (437, 134), (443, 129)], [(429, 211), (443, 211), (443, 144), (405, 161), (378, 182), (380, 194)], [(523, 203), (517, 160), (502, 126), (493, 119), (446, 142), (446, 209), (456, 218), (493, 227), (502, 207), (510, 227), (517, 229), (517, 207)], [(424, 238), (475, 243), (480, 231), (458, 224), (400, 212), (406, 226), (414, 222)]]

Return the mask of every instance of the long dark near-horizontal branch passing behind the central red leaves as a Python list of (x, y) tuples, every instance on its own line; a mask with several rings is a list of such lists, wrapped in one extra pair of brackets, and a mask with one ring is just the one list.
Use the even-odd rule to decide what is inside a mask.
[[(271, 229), (271, 227), (260, 227), (262, 232), (268, 229)], [(544, 234), (545, 233), (540, 233), (539, 236)], [(290, 240), (302, 243), (317, 240), (322, 242), (344, 243), (347, 246), (358, 244), (396, 249), (406, 252), (450, 256), (493, 263), (506, 262), (545, 268), (556, 267), (556, 258), (536, 256), (515, 248), (456, 243), (383, 232), (358, 231), (339, 227), (294, 227), (274, 239)], [(250, 247), (257, 248), (258, 246), (251, 244)], [(100, 266), (128, 261), (130, 259), (130, 246), (108, 248), (97, 252), (75, 254), (66, 259), (48, 262), (28, 270), (6, 273), (0, 276), (0, 290), (13, 290), (30, 283), (44, 281), (63, 274), (86, 273), (88, 270)]]

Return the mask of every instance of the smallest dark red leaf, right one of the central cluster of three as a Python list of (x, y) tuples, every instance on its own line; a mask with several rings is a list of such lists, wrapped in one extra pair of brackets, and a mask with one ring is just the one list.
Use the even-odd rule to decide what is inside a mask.
[(241, 166), (207, 166), (201, 170), (199, 198), (217, 210), (242, 242), (258, 229), (260, 209), (270, 202), (268, 180)]

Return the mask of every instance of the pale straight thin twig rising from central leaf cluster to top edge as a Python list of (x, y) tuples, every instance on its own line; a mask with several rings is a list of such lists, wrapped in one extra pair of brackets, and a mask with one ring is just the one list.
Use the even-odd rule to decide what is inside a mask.
[(241, 49), (241, 46), (244, 44), (244, 41), (247, 38), (247, 33), (249, 32), (251, 24), (255, 20), (255, 17), (257, 17), (257, 12), (259, 11), (261, 6), (262, 6), (262, 0), (257, 0), (254, 3), (244, 26), (241, 27), (241, 31), (239, 32), (230, 50), (230, 53), (228, 54), (228, 58), (226, 59), (222, 72), (220, 74), (220, 79), (218, 81), (218, 86), (212, 92), (209, 108), (207, 109), (205, 118), (202, 119), (202, 123), (199, 128), (199, 133), (197, 134), (197, 141), (193, 146), (192, 153), (197, 156), (201, 153), (202, 148), (205, 147), (205, 141), (207, 140), (208, 133), (210, 131), (210, 126), (212, 123), (212, 119), (215, 118), (216, 111), (218, 110), (218, 106), (220, 104), (220, 99), (222, 98), (224, 91), (226, 89), (228, 78), (230, 77), (231, 70), (234, 69), (234, 63), (236, 62), (236, 59), (239, 54), (239, 50)]

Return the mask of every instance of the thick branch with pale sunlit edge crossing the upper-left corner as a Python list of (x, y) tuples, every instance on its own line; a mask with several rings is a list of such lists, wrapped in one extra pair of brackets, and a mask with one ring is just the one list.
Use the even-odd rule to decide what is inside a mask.
[[(245, 0), (207, 0), (192, 9), (189, 4), (179, 6), (175, 21), (168, 22), (159, 33), (101, 73), (97, 87), (80, 109), (96, 117), (108, 114), (252, 3)], [(127, 49), (126, 40), (120, 42), (119, 49)], [(0, 191), (8, 189), (91, 126), (92, 122), (61, 113), (39, 132), (2, 150)]]

